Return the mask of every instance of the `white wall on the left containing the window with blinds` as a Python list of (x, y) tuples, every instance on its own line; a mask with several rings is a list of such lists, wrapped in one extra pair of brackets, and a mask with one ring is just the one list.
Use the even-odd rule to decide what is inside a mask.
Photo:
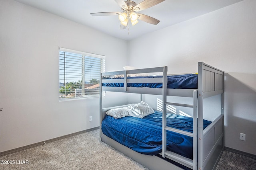
[(98, 98), (58, 101), (58, 47), (105, 55), (106, 70), (128, 62), (127, 41), (0, 0), (0, 152), (99, 126)]

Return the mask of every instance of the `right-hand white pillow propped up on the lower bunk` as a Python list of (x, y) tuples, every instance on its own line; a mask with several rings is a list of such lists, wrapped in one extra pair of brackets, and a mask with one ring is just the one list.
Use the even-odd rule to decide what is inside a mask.
[(131, 112), (129, 114), (130, 114), (130, 116), (133, 116), (133, 117), (143, 118), (147, 115), (154, 113), (154, 110), (152, 109), (152, 107), (150, 107), (145, 102), (140, 102), (138, 104), (132, 104), (132, 105), (128, 106), (127, 108), (131, 110)]

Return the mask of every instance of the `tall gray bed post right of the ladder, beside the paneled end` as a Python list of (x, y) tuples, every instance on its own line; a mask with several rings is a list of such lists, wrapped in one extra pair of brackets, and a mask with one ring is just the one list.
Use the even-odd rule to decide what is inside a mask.
[(204, 63), (198, 62), (198, 124), (197, 124), (197, 133), (198, 133), (198, 169), (203, 170), (203, 146), (204, 146), (204, 137), (203, 137), (203, 82), (204, 77)]

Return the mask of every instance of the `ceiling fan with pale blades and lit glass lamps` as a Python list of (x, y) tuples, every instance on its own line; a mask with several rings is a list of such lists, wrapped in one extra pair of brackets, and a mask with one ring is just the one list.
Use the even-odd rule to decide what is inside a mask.
[(144, 14), (138, 14), (137, 12), (155, 6), (164, 0), (144, 0), (139, 4), (133, 2), (131, 0), (115, 0), (117, 4), (122, 8), (122, 12), (97, 12), (97, 13), (90, 13), (92, 16), (111, 16), (111, 15), (118, 15), (118, 18), (121, 22), (120, 29), (126, 29), (127, 25), (131, 21), (132, 25), (138, 23), (138, 20), (145, 21), (151, 24), (158, 24), (160, 21), (156, 18), (152, 18), (150, 16), (146, 16)]

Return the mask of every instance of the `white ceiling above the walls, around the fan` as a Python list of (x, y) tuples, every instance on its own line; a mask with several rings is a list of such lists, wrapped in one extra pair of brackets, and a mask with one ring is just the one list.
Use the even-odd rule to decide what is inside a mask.
[[(99, 31), (130, 40), (176, 23), (224, 8), (242, 0), (165, 0), (160, 4), (142, 10), (139, 13), (160, 20), (158, 25), (140, 21), (130, 24), (128, 30), (120, 30), (118, 16), (91, 16), (95, 12), (121, 12), (115, 0), (15, 0), (23, 4), (44, 10), (62, 18), (75, 21)], [(133, 0), (137, 4), (143, 0)]]

